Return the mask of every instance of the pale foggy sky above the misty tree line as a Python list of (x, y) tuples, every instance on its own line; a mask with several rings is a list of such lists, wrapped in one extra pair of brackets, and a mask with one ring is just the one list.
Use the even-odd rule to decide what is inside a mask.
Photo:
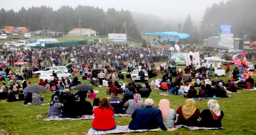
[(206, 7), (211, 7), (213, 3), (219, 4), (227, 0), (5, 0), (0, 7), (5, 10), (13, 9), (19, 11), (21, 7), (40, 7), (41, 5), (50, 6), (54, 10), (62, 5), (69, 5), (73, 8), (77, 5), (89, 5), (103, 8), (115, 8), (116, 10), (130, 10), (153, 14), (163, 19), (185, 20), (188, 14), (194, 22), (200, 22)]

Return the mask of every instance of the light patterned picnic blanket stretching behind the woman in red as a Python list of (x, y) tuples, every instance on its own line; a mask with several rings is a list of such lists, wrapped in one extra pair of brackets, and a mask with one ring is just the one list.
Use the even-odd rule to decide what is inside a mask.
[[(128, 114), (121, 114), (121, 113), (116, 113), (114, 116), (131, 116)], [(82, 115), (81, 118), (59, 118), (59, 116), (50, 116), (49, 118), (44, 119), (44, 122), (47, 121), (52, 121), (52, 120), (90, 120), (94, 119), (94, 115)]]

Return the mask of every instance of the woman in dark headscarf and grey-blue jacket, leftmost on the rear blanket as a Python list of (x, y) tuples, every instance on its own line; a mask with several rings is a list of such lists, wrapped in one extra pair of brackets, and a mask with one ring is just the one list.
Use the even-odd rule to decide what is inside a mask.
[(62, 103), (60, 103), (59, 96), (54, 96), (49, 105), (48, 115), (49, 116), (59, 116), (61, 114), (61, 106), (62, 106)]

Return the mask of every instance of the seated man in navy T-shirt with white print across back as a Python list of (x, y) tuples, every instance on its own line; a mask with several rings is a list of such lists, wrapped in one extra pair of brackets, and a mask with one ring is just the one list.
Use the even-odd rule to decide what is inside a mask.
[(117, 97), (116, 92), (111, 93), (111, 98), (108, 99), (110, 105), (114, 108), (114, 113), (124, 113), (123, 108), (125, 107), (125, 103), (121, 98)]

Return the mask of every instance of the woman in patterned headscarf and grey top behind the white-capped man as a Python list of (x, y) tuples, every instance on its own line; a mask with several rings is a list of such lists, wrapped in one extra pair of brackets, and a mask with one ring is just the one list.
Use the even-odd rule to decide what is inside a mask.
[(144, 102), (140, 101), (141, 96), (138, 93), (133, 95), (134, 99), (128, 100), (125, 104), (126, 114), (131, 115), (135, 109), (145, 107)]

